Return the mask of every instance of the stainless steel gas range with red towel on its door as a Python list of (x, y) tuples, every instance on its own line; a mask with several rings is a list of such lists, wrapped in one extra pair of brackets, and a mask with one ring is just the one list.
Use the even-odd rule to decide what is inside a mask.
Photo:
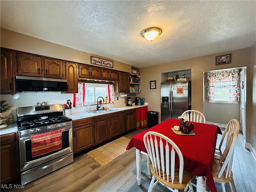
[(72, 119), (61, 104), (17, 108), (21, 183), (73, 162)]

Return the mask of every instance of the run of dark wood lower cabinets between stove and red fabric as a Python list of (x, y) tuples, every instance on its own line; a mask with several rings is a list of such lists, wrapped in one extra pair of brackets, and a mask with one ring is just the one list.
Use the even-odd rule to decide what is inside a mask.
[(73, 121), (74, 154), (136, 128), (136, 110)]

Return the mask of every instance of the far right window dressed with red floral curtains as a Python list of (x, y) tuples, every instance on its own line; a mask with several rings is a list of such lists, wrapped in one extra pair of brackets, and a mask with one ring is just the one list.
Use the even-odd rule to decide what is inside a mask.
[(239, 102), (239, 70), (207, 73), (207, 100), (209, 102)]

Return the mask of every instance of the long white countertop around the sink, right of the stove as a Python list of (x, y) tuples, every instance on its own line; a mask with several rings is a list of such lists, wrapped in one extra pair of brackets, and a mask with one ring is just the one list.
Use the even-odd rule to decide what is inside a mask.
[(83, 113), (76, 113), (76, 114), (72, 114), (72, 115), (68, 115), (68, 116), (66, 115), (66, 116), (71, 118), (74, 121), (74, 120), (79, 120), (79, 119), (83, 119), (83, 118), (95, 117), (95, 116), (99, 116), (99, 115), (114, 113), (114, 112), (118, 112), (118, 111), (136, 109), (136, 108), (140, 108), (140, 107), (144, 107), (144, 106), (148, 106), (148, 105), (133, 105), (133, 106), (124, 106), (124, 107), (114, 107), (114, 108), (111, 108), (111, 109), (116, 109), (114, 111), (108, 111), (108, 112), (99, 113), (99, 114), (83, 112)]

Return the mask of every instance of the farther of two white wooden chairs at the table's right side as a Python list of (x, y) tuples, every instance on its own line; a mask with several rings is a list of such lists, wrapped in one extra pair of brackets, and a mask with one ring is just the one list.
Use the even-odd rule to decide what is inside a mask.
[[(228, 122), (228, 124), (227, 124), (227, 126), (224, 130), (224, 133), (222, 135), (219, 147), (215, 149), (214, 158), (220, 160), (220, 158), (222, 156), (221, 147), (222, 147), (222, 144), (223, 144), (224, 140), (226, 140), (226, 142), (227, 142), (232, 133), (235, 133), (238, 136), (239, 130), (240, 130), (239, 121), (236, 120), (236, 119), (231, 119)], [(227, 143), (226, 143), (226, 145), (227, 145)], [(225, 146), (225, 148), (226, 148), (226, 146)]]

